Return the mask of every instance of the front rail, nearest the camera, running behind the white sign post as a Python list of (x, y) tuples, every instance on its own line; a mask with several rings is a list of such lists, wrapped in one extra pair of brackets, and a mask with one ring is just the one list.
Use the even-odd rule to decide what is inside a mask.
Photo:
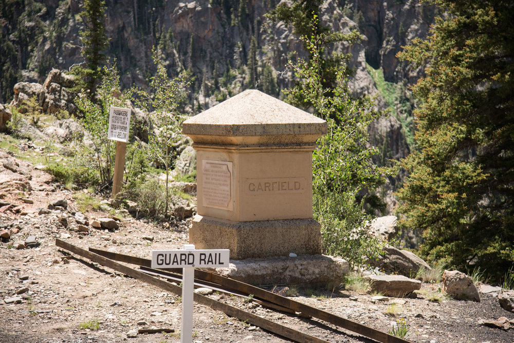
[[(143, 272), (132, 269), (130, 267), (127, 267), (123, 264), (120, 264), (120, 263), (110, 260), (106, 257), (100, 256), (98, 254), (95, 254), (93, 252), (81, 249), (80, 247), (69, 244), (63, 240), (56, 239), (56, 246), (62, 247), (63, 249), (68, 250), (74, 254), (86, 257), (86, 258), (90, 259), (91, 261), (100, 263), (104, 266), (107, 266), (108, 268), (114, 269), (114, 270), (121, 272), (123, 274), (126, 274), (128, 276), (132, 276), (133, 278), (140, 279), (146, 283), (153, 284), (157, 287), (162, 288), (163, 290), (170, 291), (177, 295), (182, 294), (182, 288), (179, 286), (176, 286), (167, 281), (158, 279), (156, 277), (144, 274)], [(248, 323), (251, 323), (252, 325), (258, 326), (264, 330), (267, 330), (267, 331), (270, 331), (279, 336), (291, 339), (298, 343), (329, 343), (326, 340), (323, 340), (323, 339), (320, 339), (318, 337), (314, 337), (311, 335), (307, 335), (307, 334), (302, 333), (297, 330), (293, 330), (286, 326), (280, 325), (279, 323), (272, 322), (268, 319), (261, 318), (252, 313), (245, 312), (243, 310), (232, 307), (226, 303), (211, 299), (211, 298), (203, 296), (201, 294), (195, 293), (194, 301), (204, 304), (213, 310), (222, 311), (231, 317), (235, 317), (240, 320), (247, 321)]]

